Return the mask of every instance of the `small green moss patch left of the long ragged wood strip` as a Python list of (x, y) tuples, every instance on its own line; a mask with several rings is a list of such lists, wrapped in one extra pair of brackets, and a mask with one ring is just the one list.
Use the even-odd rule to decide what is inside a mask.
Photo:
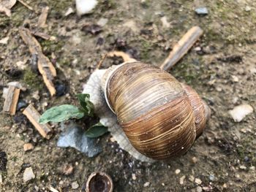
[(23, 82), (34, 90), (42, 90), (44, 85), (42, 78), (39, 77), (38, 74), (32, 72), (31, 69), (27, 69), (25, 71), (23, 75)]

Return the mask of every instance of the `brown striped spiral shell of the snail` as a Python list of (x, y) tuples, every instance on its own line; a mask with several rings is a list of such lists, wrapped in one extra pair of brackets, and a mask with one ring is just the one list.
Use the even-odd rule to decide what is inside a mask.
[(137, 61), (110, 67), (102, 87), (129, 141), (149, 158), (163, 160), (187, 153), (210, 114), (188, 85)]

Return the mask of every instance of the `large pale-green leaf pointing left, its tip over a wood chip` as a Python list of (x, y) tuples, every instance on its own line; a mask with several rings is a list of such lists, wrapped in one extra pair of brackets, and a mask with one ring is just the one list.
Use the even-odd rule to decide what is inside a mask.
[(48, 123), (49, 121), (61, 122), (71, 118), (83, 118), (85, 113), (72, 104), (63, 104), (46, 110), (40, 117), (39, 123)]

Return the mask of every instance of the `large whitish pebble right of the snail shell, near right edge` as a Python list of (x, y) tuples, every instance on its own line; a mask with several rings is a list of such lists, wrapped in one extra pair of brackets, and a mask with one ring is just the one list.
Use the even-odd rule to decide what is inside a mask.
[(233, 110), (228, 111), (235, 122), (240, 122), (245, 118), (246, 115), (249, 115), (252, 112), (253, 108), (249, 104), (241, 104), (234, 107)]

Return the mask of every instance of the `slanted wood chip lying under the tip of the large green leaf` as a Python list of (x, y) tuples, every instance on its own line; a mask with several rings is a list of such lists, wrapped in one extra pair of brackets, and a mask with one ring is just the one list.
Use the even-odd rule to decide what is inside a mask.
[(53, 129), (50, 128), (48, 124), (39, 123), (40, 114), (39, 112), (37, 112), (36, 109), (34, 109), (31, 104), (29, 104), (29, 106), (26, 107), (25, 110), (23, 110), (23, 114), (26, 115), (26, 117), (30, 120), (30, 122), (37, 129), (37, 131), (39, 131), (39, 134), (41, 134), (42, 137), (50, 139)]

